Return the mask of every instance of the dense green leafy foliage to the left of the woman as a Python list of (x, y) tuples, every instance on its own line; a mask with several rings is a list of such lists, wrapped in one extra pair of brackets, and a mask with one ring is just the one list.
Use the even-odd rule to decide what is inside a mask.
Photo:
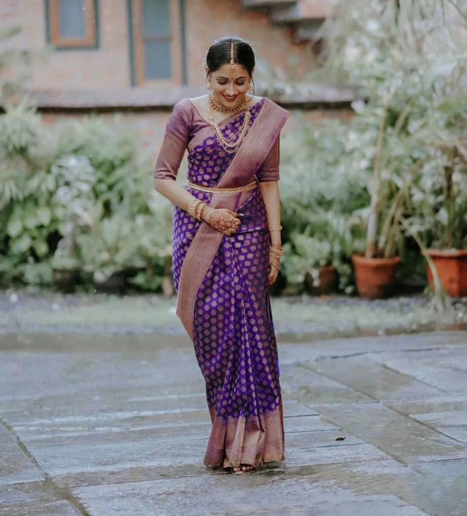
[(152, 188), (151, 165), (119, 119), (49, 126), (23, 102), (7, 106), (0, 128), (4, 283), (47, 285), (53, 269), (78, 269), (84, 283), (124, 272), (159, 289), (171, 204)]

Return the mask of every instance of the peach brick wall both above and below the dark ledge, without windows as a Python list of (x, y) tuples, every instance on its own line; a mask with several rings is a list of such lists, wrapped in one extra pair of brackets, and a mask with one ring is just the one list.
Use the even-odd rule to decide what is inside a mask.
[[(178, 2), (179, 0), (173, 0)], [(23, 27), (23, 33), (13, 44), (17, 48), (29, 48), (43, 52), (46, 45), (45, 0), (0, 0), (0, 22), (2, 26)], [(68, 92), (73, 98), (78, 96), (76, 90), (87, 91), (100, 89), (107, 98), (112, 92), (119, 92), (120, 97), (128, 96), (127, 88), (131, 85), (130, 55), (128, 47), (128, 13), (127, 0), (99, 0), (99, 40), (96, 50), (61, 50), (52, 51), (46, 60), (36, 58), (31, 68), (29, 87), (33, 90), (56, 91), (54, 113), (47, 113), (44, 105), (44, 120), (54, 123), (56, 120), (78, 115), (66, 113), (60, 109), (60, 102)], [(201, 60), (212, 42), (221, 36), (237, 35), (252, 41), (259, 58), (258, 72), (268, 63), (279, 76), (301, 76), (310, 71), (313, 58), (303, 45), (293, 41), (292, 30), (271, 26), (265, 13), (247, 11), (241, 7), (240, 0), (185, 0), (186, 47), (188, 83), (196, 87), (204, 85)], [(273, 44), (271, 44), (273, 42)], [(167, 85), (151, 84), (147, 88), (151, 96), (165, 96)], [(154, 94), (152, 93), (152, 90)], [(196, 89), (196, 88), (195, 88)], [(204, 91), (201, 88), (201, 91)], [(112, 109), (110, 108), (110, 111)], [(84, 112), (84, 111), (83, 111)], [(111, 123), (114, 112), (101, 114)], [(137, 132), (141, 148), (153, 157), (158, 152), (164, 135), (169, 111), (157, 109), (126, 110), (123, 119)], [(299, 124), (301, 117), (312, 123), (320, 123), (329, 117), (348, 118), (346, 109), (305, 110), (292, 114), (284, 132)]]

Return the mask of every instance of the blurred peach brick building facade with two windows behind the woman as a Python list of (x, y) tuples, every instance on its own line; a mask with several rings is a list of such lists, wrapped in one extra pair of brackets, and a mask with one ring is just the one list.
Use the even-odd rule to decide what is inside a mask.
[[(257, 76), (301, 79), (330, 0), (0, 0), (8, 42), (34, 50), (28, 89), (46, 120), (119, 111), (157, 152), (173, 104), (205, 92), (201, 66), (221, 36), (251, 41)], [(263, 88), (264, 89), (264, 88)], [(260, 87), (260, 94), (264, 93)], [(346, 116), (349, 92), (277, 98), (309, 118)], [(331, 110), (332, 108), (332, 110)]]

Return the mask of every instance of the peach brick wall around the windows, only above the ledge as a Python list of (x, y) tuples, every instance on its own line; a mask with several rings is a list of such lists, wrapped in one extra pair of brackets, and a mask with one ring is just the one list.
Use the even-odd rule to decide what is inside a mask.
[[(41, 51), (46, 46), (45, 0), (2, 0), (2, 26), (20, 25), (16, 46)], [(177, 3), (178, 0), (173, 0)], [(100, 45), (90, 50), (54, 50), (36, 59), (32, 89), (128, 88), (131, 86), (127, 0), (99, 0)], [(204, 83), (201, 61), (214, 39), (238, 35), (252, 41), (261, 62), (279, 75), (301, 75), (313, 67), (291, 29), (273, 27), (264, 13), (247, 11), (239, 0), (185, 0), (188, 83)], [(207, 25), (208, 24), (208, 25)], [(271, 45), (271, 41), (274, 42)], [(149, 87), (158, 88), (157, 83)], [(160, 83), (160, 87), (166, 85)]]

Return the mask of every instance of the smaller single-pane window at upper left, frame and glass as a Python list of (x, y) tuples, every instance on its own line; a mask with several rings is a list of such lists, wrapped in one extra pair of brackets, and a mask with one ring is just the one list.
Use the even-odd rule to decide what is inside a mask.
[(97, 0), (47, 0), (49, 40), (56, 47), (95, 47)]

